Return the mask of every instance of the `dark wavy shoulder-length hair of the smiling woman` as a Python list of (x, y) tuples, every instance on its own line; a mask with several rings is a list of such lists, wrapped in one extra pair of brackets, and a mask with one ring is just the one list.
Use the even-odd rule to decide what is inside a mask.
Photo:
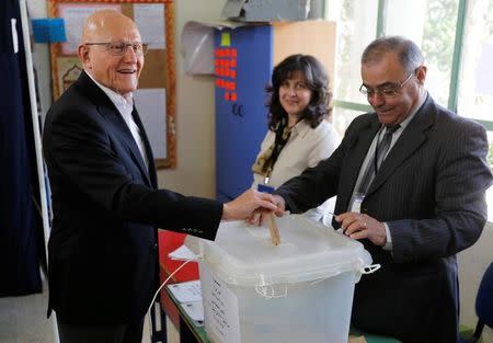
[(276, 130), (287, 117), (286, 111), (280, 105), (279, 88), (284, 81), (290, 79), (297, 71), (301, 72), (308, 88), (312, 91), (310, 103), (300, 117), (314, 128), (332, 111), (329, 107), (332, 92), (329, 90), (329, 77), (323, 66), (313, 56), (291, 55), (274, 67), (271, 84), (265, 88), (268, 94), (266, 107), (268, 108), (268, 128), (271, 130)]

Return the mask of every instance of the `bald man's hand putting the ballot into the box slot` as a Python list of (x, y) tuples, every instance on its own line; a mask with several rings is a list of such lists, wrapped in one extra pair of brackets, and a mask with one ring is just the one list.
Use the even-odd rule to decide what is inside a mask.
[(222, 219), (244, 220), (251, 218), (255, 210), (276, 211), (274, 196), (251, 188), (222, 206)]

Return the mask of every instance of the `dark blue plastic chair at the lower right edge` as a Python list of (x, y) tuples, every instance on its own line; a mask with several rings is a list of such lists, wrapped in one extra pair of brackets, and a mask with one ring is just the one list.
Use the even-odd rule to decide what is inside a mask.
[(469, 339), (460, 339), (460, 343), (475, 343), (480, 340), (484, 325), (493, 329), (493, 262), (484, 272), (475, 297), (478, 324)]

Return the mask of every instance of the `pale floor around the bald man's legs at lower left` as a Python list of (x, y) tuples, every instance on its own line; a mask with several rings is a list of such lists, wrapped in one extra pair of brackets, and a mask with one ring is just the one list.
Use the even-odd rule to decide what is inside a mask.
[[(24, 297), (0, 298), (0, 343), (57, 343), (51, 318), (46, 318), (47, 288), (44, 293)], [(142, 343), (150, 343), (149, 316), (144, 327)], [(168, 342), (179, 341), (168, 322)]]

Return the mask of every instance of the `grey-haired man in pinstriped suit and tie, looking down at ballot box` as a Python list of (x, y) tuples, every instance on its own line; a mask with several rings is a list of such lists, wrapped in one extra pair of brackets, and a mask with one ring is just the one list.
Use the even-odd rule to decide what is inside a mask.
[(334, 226), (381, 268), (356, 284), (352, 324), (404, 343), (458, 340), (456, 254), (486, 221), (492, 182), (484, 128), (437, 105), (420, 48), (402, 37), (362, 56), (355, 118), (326, 160), (282, 185), (279, 209), (302, 213), (337, 195)]

